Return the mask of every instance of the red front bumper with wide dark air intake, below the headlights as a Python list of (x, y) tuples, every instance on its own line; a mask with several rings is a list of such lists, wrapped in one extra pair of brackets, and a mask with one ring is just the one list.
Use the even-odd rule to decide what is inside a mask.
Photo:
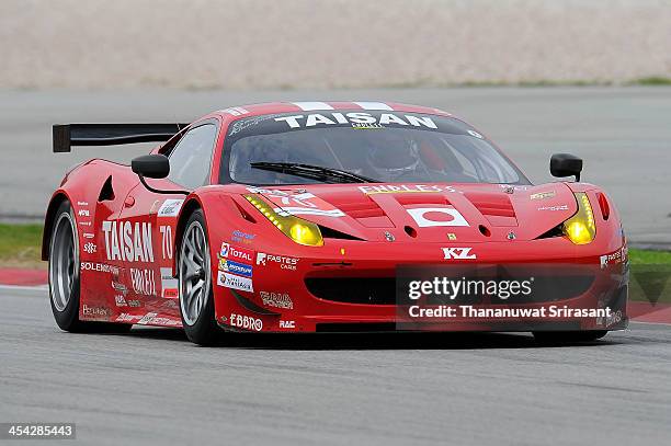
[[(524, 298), (500, 299), (485, 293), (466, 299), (418, 302), (402, 294), (399, 287), (405, 282), (399, 277), (407, 276), (408, 271), (414, 271), (418, 277), (434, 275), (446, 264), (440, 259), (442, 245), (390, 244), (339, 241), (326, 245), (318, 258), (286, 254), (269, 261), (265, 256), (264, 264), (253, 265), (253, 291), (215, 287), (217, 322), (230, 330), (264, 332), (622, 330), (628, 323), (625, 247), (612, 249), (624, 253), (619, 262), (604, 265), (600, 252), (582, 247), (579, 252), (571, 244), (558, 247), (556, 240), (519, 242), (514, 247), (482, 243), (477, 259), (450, 262), (454, 271), (463, 267), (491, 273), (492, 267), (513, 265), (518, 273), (526, 271), (544, 285)], [(455, 313), (412, 318), (409, 308), (413, 304), (454, 308)], [(464, 312), (465, 306), (545, 308), (545, 316), (476, 318)], [(550, 307), (556, 307), (558, 315), (549, 316)], [(609, 308), (610, 315), (562, 315), (566, 308)]]

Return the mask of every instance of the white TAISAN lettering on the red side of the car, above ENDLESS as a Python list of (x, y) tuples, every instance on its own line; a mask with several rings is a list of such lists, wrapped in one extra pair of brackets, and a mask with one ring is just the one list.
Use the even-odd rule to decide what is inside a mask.
[(153, 262), (150, 222), (105, 220), (102, 230), (107, 260)]

